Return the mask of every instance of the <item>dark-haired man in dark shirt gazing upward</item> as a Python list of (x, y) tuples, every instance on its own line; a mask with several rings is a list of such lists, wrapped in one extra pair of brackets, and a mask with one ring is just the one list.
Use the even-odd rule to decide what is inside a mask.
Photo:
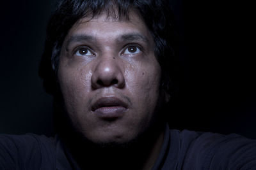
[(60, 1), (40, 67), (56, 138), (1, 136), (1, 169), (255, 168), (253, 140), (168, 129), (167, 12), (163, 1)]

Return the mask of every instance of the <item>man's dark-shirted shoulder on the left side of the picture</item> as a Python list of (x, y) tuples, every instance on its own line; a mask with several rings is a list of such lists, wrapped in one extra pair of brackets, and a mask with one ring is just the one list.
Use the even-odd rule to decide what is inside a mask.
[(1, 134), (0, 169), (38, 169), (54, 166), (55, 143), (53, 138), (36, 134)]

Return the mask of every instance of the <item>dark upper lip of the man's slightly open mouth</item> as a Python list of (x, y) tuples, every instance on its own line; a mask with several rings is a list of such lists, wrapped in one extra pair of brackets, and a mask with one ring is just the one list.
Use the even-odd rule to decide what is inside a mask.
[(124, 108), (127, 108), (127, 104), (122, 101), (121, 99), (118, 99), (117, 97), (102, 97), (95, 101), (92, 105), (92, 111), (97, 110), (98, 108), (102, 107), (110, 107), (110, 106), (121, 106)]

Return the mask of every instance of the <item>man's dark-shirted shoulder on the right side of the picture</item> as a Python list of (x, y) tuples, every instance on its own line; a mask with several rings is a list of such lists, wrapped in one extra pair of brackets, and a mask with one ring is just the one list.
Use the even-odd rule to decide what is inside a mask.
[(256, 168), (256, 140), (238, 134), (171, 130), (184, 169)]

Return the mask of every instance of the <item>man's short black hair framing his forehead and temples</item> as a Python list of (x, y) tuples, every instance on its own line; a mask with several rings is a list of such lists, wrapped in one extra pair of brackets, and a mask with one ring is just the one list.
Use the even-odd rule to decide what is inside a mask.
[(53, 96), (58, 91), (58, 62), (61, 46), (70, 28), (83, 17), (106, 13), (107, 17), (129, 20), (129, 11), (135, 10), (143, 18), (154, 38), (154, 53), (161, 66), (161, 88), (170, 94), (177, 33), (173, 15), (164, 0), (60, 0), (47, 26), (45, 48), (39, 68), (46, 92)]

